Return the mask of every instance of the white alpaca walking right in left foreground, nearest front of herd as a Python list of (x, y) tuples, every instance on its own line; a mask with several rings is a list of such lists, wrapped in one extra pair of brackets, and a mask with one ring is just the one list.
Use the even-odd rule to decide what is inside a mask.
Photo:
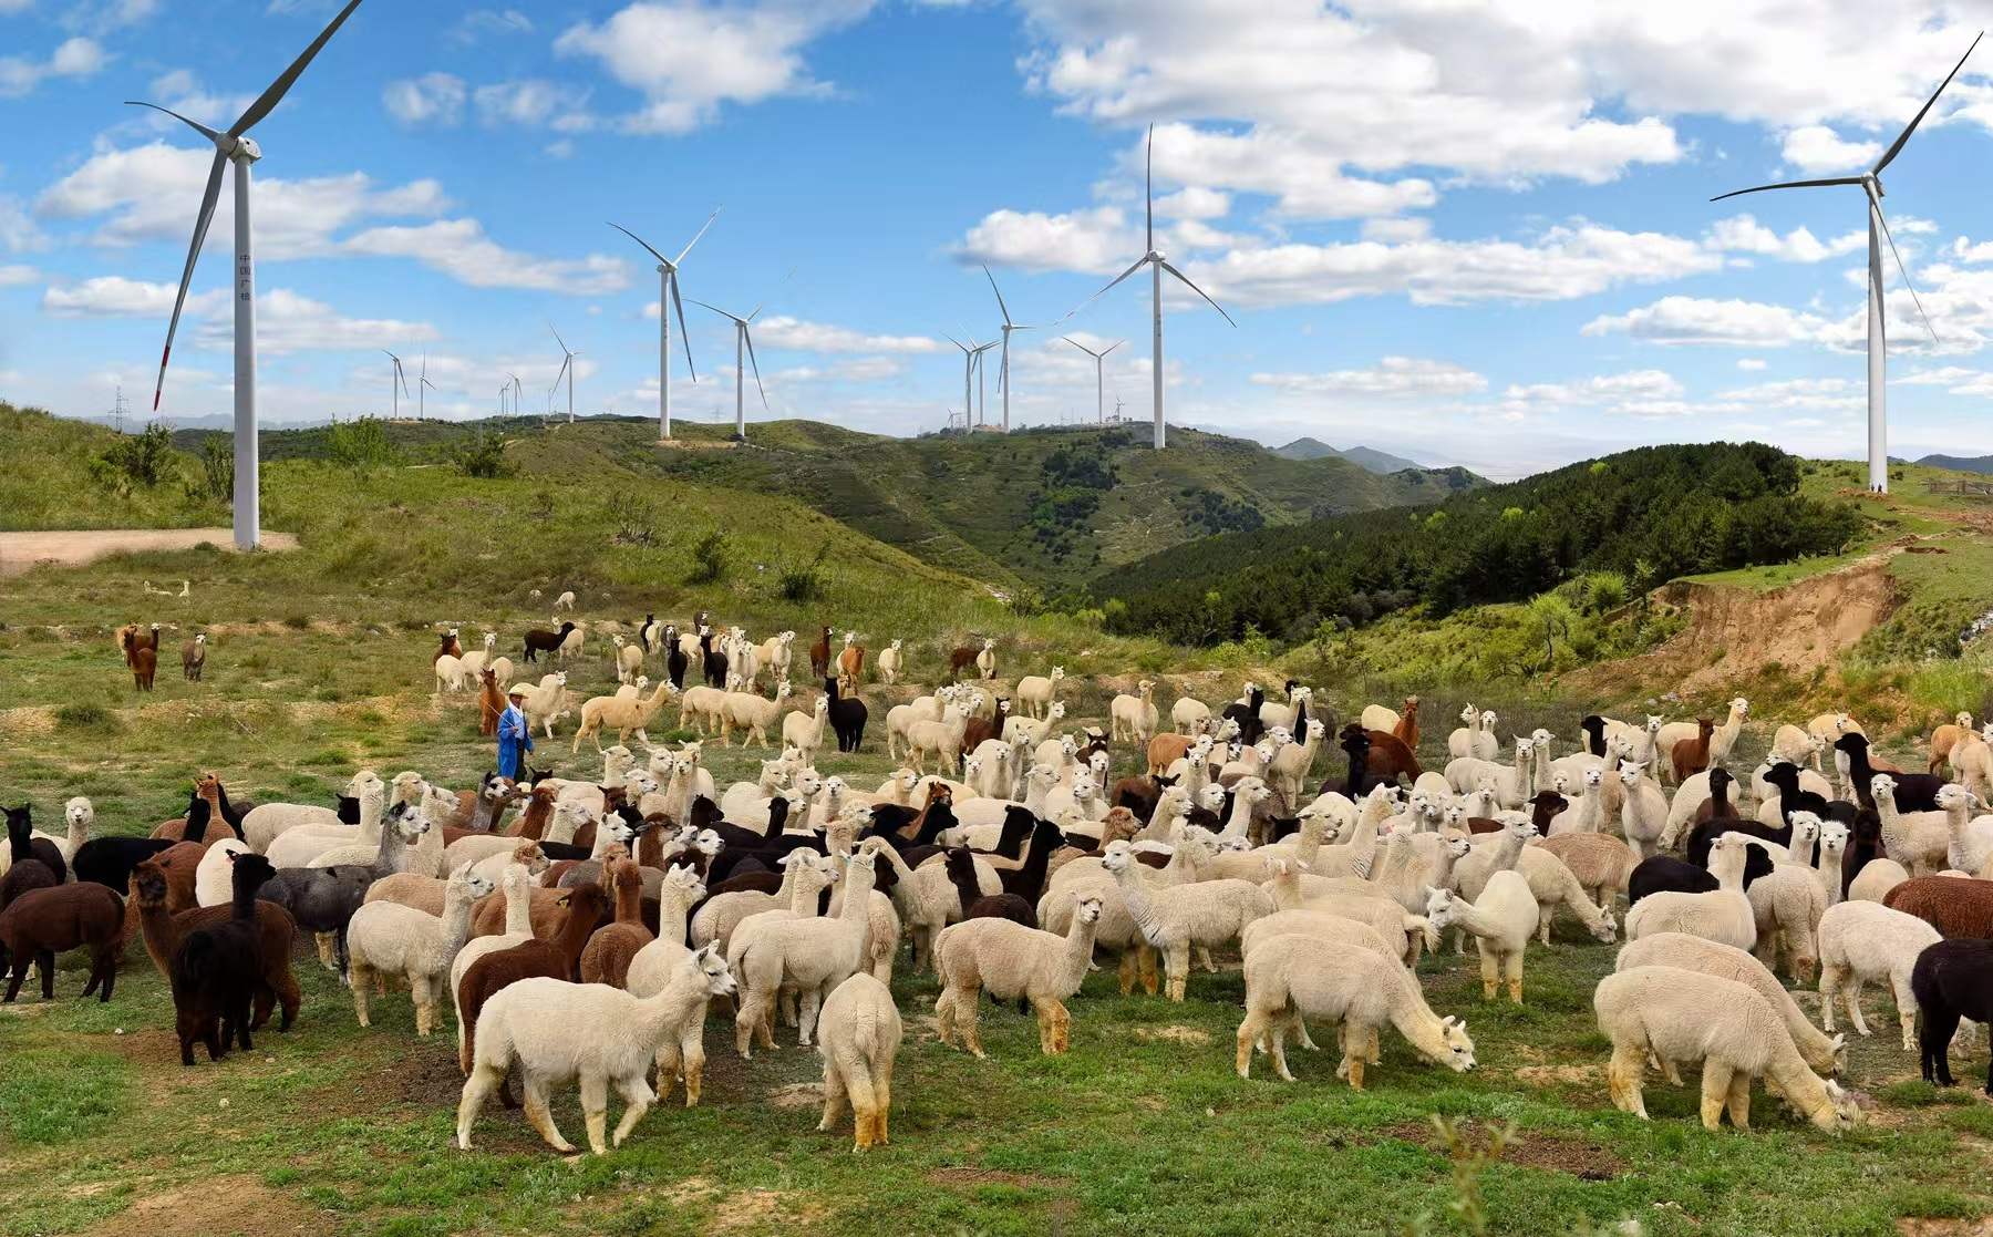
[[(478, 1012), (478, 1052), (456, 1106), (456, 1145), (470, 1149), (470, 1123), (518, 1060), (526, 1119), (546, 1145), (562, 1153), (574, 1149), (554, 1127), (546, 1092), (552, 1084), (578, 1080), (588, 1145), (596, 1155), (608, 1153), (608, 1090), (616, 1086), (622, 1092), (628, 1108), (612, 1139), (620, 1147), (662, 1096), (644, 1082), (660, 1046), (684, 1036), (688, 1026), (702, 1026), (706, 1004), (731, 992), (733, 976), (712, 946), (690, 954), (672, 982), (650, 998), (608, 984), (544, 976), (500, 988)], [(670, 1086), (662, 1074), (660, 1084)], [(688, 1074), (690, 1096), (698, 1094), (698, 1078)]]

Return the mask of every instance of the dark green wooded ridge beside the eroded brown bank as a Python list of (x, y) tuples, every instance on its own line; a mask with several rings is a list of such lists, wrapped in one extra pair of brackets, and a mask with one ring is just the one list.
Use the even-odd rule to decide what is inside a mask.
[(1861, 528), (1756, 442), (1648, 446), (1441, 504), (1218, 536), (1100, 576), (1110, 629), (1184, 643), (1307, 639), (1425, 606), (1523, 602), (1584, 572), (1620, 600), (1692, 572), (1836, 554)]

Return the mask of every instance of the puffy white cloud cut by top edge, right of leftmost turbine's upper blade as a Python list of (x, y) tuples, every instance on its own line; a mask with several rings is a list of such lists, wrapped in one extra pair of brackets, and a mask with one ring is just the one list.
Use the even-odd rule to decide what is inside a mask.
[(815, 4), (638, 2), (602, 24), (582, 22), (554, 40), (562, 56), (590, 56), (646, 104), (624, 118), (638, 133), (686, 133), (723, 104), (825, 94), (803, 48), (871, 12), (871, 0)]

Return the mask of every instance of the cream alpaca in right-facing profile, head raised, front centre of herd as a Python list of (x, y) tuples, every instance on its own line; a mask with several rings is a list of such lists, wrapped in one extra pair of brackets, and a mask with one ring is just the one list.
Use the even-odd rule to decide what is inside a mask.
[(1064, 936), (1006, 918), (973, 918), (945, 928), (935, 940), (943, 984), (935, 1000), (941, 1042), (953, 1046), (961, 1034), (969, 1052), (985, 1056), (977, 1008), (987, 990), (996, 1002), (1030, 1000), (1038, 1012), (1038, 1052), (1064, 1052), (1072, 1028), (1064, 998), (1086, 980), (1098, 924), (1100, 898), (1084, 896)]

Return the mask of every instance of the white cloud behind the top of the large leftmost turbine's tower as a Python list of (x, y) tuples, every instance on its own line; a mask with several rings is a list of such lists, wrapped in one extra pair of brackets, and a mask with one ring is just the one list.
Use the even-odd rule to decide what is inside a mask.
[[(92, 233), (98, 245), (185, 245), (211, 159), (207, 151), (163, 141), (106, 149), (50, 185), (34, 209), (48, 219), (110, 215)], [(436, 181), (381, 189), (363, 171), (301, 181), (257, 177), (255, 199), (257, 259), (263, 261), (327, 257), (337, 253), (333, 235), (363, 219), (428, 217), (448, 207)], [(233, 219), (233, 195), (223, 185), (209, 241), (231, 235)]]

